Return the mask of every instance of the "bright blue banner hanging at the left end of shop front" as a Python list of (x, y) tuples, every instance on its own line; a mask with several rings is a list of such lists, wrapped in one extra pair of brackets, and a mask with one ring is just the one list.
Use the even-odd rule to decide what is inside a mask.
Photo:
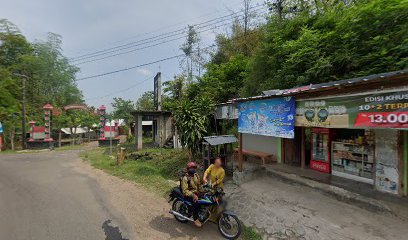
[(256, 100), (238, 104), (238, 132), (294, 138), (293, 97)]

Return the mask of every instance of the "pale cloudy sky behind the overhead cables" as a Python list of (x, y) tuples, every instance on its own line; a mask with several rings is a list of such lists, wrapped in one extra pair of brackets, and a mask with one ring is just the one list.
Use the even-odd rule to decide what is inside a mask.
[[(252, 5), (255, 9), (263, 2), (252, 0)], [(81, 69), (78, 79), (179, 55), (184, 39), (140, 48), (182, 38), (183, 35), (171, 38), (171, 32), (218, 18), (204, 24), (208, 27), (202, 28), (200, 33), (201, 44), (212, 45), (215, 35), (227, 32), (231, 22), (220, 17), (243, 9), (242, 0), (0, 0), (0, 6), (0, 18), (16, 24), (29, 41), (45, 40), (48, 32), (61, 35), (63, 52), (68, 58), (133, 43), (122, 50), (133, 50), (128, 54), (82, 64), (79, 64), (81, 61), (72, 62)], [(158, 35), (165, 38), (156, 42), (146, 40)], [(144, 42), (140, 42), (142, 40)], [(149, 43), (146, 45), (146, 42)], [(110, 55), (120, 53), (118, 49), (114, 51)], [(78, 81), (78, 87), (88, 105), (98, 107), (103, 104), (109, 111), (114, 97), (136, 101), (144, 92), (153, 90), (153, 77), (157, 72), (162, 72), (163, 82), (181, 73), (180, 61), (175, 58), (85, 79)]]

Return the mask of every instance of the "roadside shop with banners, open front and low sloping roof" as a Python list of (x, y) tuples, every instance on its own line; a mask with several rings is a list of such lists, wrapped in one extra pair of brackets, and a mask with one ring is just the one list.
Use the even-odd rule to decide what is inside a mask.
[[(279, 99), (295, 102), (293, 125)], [(408, 195), (408, 71), (265, 91), (233, 103), (239, 110), (240, 156), (248, 150), (245, 139), (256, 148), (268, 143), (267, 135), (273, 143), (264, 148), (278, 163)], [(248, 109), (253, 111), (245, 113)], [(265, 131), (269, 124), (275, 131)]]

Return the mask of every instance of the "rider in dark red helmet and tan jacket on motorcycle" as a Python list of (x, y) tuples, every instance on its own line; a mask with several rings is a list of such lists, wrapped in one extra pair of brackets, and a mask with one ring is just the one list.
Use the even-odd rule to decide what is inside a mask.
[(196, 173), (196, 169), (197, 164), (195, 162), (189, 162), (187, 164), (187, 173), (182, 178), (181, 189), (186, 200), (192, 203), (194, 225), (196, 225), (196, 227), (201, 227), (201, 222), (198, 219), (198, 196), (203, 192), (203, 189), (200, 176)]

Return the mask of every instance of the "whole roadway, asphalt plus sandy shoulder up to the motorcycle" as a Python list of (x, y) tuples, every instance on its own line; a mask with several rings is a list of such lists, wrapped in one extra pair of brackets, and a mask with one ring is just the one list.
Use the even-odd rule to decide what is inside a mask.
[(79, 152), (0, 154), (0, 239), (220, 239), (214, 224), (176, 222), (165, 199)]

